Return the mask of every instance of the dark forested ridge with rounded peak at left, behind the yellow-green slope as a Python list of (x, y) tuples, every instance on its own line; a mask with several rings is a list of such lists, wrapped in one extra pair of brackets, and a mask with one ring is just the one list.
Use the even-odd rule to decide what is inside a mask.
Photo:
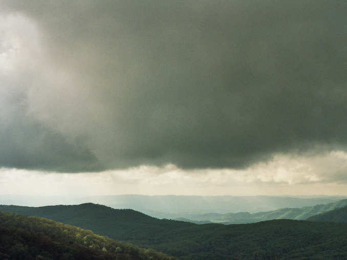
[(123, 241), (131, 240), (143, 233), (165, 233), (172, 229), (194, 225), (188, 222), (159, 220), (132, 209), (114, 209), (93, 203), (44, 207), (0, 205), (0, 211), (52, 219), (93, 230), (112, 239), (115, 239), (117, 234), (117, 237)]

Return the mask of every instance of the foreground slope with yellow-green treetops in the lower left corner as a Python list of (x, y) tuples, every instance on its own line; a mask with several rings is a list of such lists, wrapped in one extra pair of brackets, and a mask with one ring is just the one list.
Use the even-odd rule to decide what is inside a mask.
[(94, 234), (90, 230), (52, 220), (0, 212), (0, 259), (162, 259), (153, 249), (142, 249)]

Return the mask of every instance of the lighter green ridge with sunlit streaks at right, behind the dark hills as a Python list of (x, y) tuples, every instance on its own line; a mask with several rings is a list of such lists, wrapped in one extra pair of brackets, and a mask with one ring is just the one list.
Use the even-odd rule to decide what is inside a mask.
[(347, 199), (344, 199), (328, 204), (319, 204), (315, 206), (301, 208), (280, 208), (277, 210), (257, 212), (254, 214), (250, 214), (249, 212), (238, 212), (228, 214), (203, 214), (191, 217), (190, 219), (185, 219), (184, 221), (189, 221), (197, 224), (199, 224), (199, 222), (209, 221), (212, 223), (222, 223), (228, 225), (255, 223), (273, 219), (305, 220), (314, 215), (321, 214), (322, 212), (330, 211), (335, 208), (346, 205)]

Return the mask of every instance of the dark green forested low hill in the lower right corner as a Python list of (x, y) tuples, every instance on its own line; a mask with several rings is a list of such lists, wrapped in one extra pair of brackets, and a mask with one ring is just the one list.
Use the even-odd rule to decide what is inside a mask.
[[(275, 220), (243, 225), (197, 225), (182, 230), (170, 242), (158, 246), (174, 254), (174, 248), (199, 245), (181, 252), (186, 259), (202, 255), (213, 259), (323, 259), (335, 255), (347, 258), (347, 225), (317, 225), (293, 220)], [(200, 249), (200, 250), (199, 250)], [(215, 257), (217, 258), (217, 257)], [(200, 258), (205, 259), (205, 258)], [(337, 257), (335, 257), (337, 259)]]

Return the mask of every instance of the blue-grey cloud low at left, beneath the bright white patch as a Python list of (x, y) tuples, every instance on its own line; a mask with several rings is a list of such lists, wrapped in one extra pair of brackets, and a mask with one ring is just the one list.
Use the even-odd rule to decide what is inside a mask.
[(83, 140), (67, 139), (25, 115), (25, 97), (20, 93), (2, 100), (10, 118), (3, 114), (0, 125), (2, 167), (64, 171), (97, 171), (97, 158), (83, 146)]

